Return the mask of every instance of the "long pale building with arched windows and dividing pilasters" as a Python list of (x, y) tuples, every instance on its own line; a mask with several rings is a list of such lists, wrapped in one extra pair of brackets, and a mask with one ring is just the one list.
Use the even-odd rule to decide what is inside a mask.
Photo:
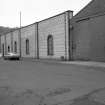
[(73, 11), (66, 11), (6, 33), (1, 36), (1, 52), (15, 52), (22, 58), (69, 60), (72, 17)]

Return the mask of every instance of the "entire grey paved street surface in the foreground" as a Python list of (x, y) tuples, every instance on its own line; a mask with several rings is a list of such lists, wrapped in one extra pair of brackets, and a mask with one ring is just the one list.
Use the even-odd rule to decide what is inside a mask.
[(0, 105), (104, 105), (104, 88), (104, 67), (0, 60)]

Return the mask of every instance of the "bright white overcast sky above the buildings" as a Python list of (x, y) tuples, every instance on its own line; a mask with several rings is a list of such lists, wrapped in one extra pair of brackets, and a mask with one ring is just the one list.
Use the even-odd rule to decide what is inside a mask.
[(0, 26), (26, 26), (67, 10), (78, 13), (91, 0), (0, 0)]

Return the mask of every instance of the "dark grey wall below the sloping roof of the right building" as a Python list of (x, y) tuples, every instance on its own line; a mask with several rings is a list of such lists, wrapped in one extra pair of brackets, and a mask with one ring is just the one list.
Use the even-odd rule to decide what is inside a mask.
[(74, 24), (73, 58), (105, 61), (105, 15)]

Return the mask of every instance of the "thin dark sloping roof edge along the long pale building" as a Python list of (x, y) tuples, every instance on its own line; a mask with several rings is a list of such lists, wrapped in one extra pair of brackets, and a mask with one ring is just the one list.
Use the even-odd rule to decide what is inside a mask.
[(14, 29), (14, 30), (10, 30), (9, 32), (6, 32), (6, 33), (4, 33), (4, 34), (1, 34), (1, 36), (6, 35), (6, 34), (11, 33), (11, 32), (14, 32), (14, 31), (19, 30), (19, 29), (26, 28), (26, 27), (28, 27), (28, 26), (31, 26), (31, 25), (34, 25), (34, 24), (37, 24), (37, 23), (40, 23), (40, 22), (42, 22), (42, 21), (46, 21), (46, 20), (48, 20), (48, 19), (51, 19), (51, 18), (57, 17), (57, 16), (59, 16), (59, 15), (64, 14), (65, 12), (73, 12), (73, 11), (71, 11), (71, 10), (64, 11), (64, 12), (62, 12), (62, 13), (59, 13), (59, 14), (57, 14), (57, 15), (54, 15), (54, 16), (51, 16), (51, 17), (49, 17), (49, 18), (43, 19), (43, 20), (41, 20), (41, 21), (34, 22), (34, 23), (32, 23), (32, 24), (29, 24), (29, 25), (23, 26), (23, 27), (21, 27), (21, 28), (17, 28), (17, 29)]

